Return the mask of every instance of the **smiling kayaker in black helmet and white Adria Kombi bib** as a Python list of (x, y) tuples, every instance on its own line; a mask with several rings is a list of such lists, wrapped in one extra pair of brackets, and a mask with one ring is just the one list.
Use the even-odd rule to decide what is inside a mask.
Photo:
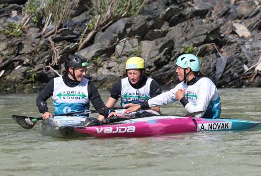
[[(84, 77), (87, 66), (88, 62), (84, 56), (79, 54), (68, 56), (64, 75), (51, 79), (36, 99), (36, 105), (39, 112), (43, 113), (44, 119), (52, 116), (46, 103), (51, 96), (56, 115), (89, 110), (89, 101), (96, 110), (106, 108), (96, 86)], [(104, 111), (101, 115), (107, 116), (107, 112)]]

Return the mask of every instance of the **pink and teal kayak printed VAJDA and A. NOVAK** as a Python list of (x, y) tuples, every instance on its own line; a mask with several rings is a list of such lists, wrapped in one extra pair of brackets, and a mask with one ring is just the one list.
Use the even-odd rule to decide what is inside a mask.
[(180, 116), (152, 116), (129, 119), (111, 125), (77, 126), (74, 130), (93, 137), (149, 137), (197, 131), (247, 130), (260, 127), (256, 121), (240, 119), (203, 119)]

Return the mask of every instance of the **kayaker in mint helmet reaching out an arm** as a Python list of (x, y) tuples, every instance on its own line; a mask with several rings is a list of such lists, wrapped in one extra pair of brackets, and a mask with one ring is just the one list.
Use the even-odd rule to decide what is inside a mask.
[(177, 59), (176, 72), (181, 81), (174, 89), (144, 102), (142, 105), (127, 104), (125, 113), (153, 108), (180, 101), (188, 113), (205, 111), (196, 115), (203, 118), (219, 118), (220, 96), (215, 84), (207, 77), (199, 76), (200, 62), (193, 54), (182, 54)]

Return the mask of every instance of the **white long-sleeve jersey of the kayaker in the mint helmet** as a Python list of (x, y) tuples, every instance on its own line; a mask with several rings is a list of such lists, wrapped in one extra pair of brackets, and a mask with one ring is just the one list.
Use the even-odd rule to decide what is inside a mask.
[(198, 114), (196, 117), (219, 118), (221, 113), (220, 96), (215, 84), (207, 77), (198, 79), (192, 85), (187, 85), (182, 81), (174, 89), (148, 100), (149, 107), (153, 108), (178, 101), (176, 93), (182, 89), (186, 89), (185, 98), (188, 103), (185, 109), (188, 113), (205, 111), (205, 113)]

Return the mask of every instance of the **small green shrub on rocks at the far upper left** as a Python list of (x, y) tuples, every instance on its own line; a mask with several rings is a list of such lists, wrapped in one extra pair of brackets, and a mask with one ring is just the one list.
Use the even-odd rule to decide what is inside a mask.
[(14, 22), (9, 22), (4, 34), (7, 36), (15, 36), (16, 38), (19, 38), (22, 36), (24, 31), (23, 25), (21, 23), (15, 24)]

